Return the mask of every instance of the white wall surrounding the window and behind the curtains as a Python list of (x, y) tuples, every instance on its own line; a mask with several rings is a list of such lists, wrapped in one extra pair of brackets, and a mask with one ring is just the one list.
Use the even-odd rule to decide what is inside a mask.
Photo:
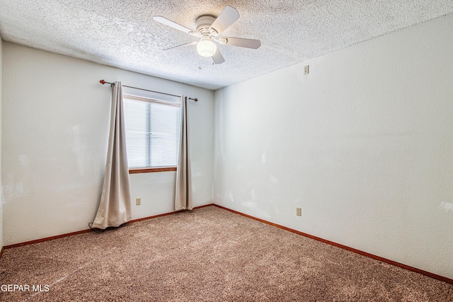
[[(99, 80), (198, 98), (190, 104), (194, 205), (212, 203), (213, 92), (4, 42), (4, 245), (88, 228), (110, 119)], [(176, 172), (130, 175), (132, 218), (173, 211)]]

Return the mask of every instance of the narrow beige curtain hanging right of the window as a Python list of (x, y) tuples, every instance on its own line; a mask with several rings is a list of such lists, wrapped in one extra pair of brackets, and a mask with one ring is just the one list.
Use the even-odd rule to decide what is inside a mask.
[(181, 96), (180, 149), (176, 170), (175, 211), (193, 209), (189, 146), (188, 100), (187, 97)]

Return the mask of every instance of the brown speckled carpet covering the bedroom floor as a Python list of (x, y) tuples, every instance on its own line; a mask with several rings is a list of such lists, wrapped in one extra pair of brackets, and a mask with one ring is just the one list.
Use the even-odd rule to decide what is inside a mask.
[(218, 207), (6, 249), (0, 280), (23, 286), (0, 301), (453, 301), (453, 284)]

